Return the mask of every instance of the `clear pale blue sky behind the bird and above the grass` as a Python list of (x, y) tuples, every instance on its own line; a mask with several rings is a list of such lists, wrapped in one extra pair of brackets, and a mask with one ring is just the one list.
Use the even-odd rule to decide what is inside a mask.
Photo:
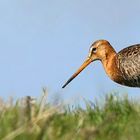
[(0, 95), (36, 97), (47, 87), (65, 99), (110, 91), (139, 97), (138, 88), (112, 82), (100, 62), (61, 89), (95, 40), (107, 39), (116, 51), (140, 43), (139, 7), (139, 0), (0, 1)]

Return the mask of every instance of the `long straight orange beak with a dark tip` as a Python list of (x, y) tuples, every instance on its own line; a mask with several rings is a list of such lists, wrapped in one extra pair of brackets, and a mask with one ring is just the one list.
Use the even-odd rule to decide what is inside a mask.
[(87, 58), (85, 62), (80, 66), (80, 68), (68, 79), (68, 81), (63, 85), (62, 88), (65, 88), (82, 70), (84, 70), (92, 60), (90, 58)]

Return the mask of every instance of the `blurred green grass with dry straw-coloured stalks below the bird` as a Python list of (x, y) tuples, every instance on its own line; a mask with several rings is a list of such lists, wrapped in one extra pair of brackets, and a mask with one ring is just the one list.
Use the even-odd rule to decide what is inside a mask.
[[(100, 101), (101, 102), (101, 101)], [(140, 140), (140, 104), (108, 95), (86, 109), (36, 103), (0, 102), (0, 140)]]

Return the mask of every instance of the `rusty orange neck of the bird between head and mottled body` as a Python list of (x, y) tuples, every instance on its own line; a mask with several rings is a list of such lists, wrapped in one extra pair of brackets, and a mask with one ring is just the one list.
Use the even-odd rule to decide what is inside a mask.
[(102, 64), (110, 79), (121, 84), (123, 77), (118, 68), (117, 54), (114, 50), (102, 60)]

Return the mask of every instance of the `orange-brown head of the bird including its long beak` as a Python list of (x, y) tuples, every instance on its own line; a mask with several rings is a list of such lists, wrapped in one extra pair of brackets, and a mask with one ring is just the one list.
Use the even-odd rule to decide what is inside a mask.
[(104, 61), (111, 51), (114, 49), (111, 47), (110, 43), (106, 40), (97, 40), (95, 41), (89, 50), (88, 57), (80, 68), (69, 78), (69, 80), (63, 85), (64, 88), (68, 85), (83, 69), (85, 69), (91, 62), (95, 60)]

